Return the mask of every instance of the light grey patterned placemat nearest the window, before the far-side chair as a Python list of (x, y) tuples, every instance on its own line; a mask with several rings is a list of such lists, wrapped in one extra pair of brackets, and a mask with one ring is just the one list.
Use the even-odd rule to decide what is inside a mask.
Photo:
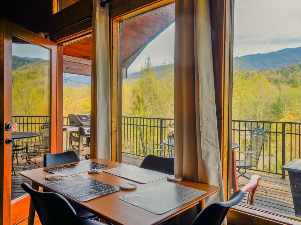
[(126, 178), (139, 183), (150, 183), (162, 178), (166, 178), (168, 174), (160, 173), (153, 170), (143, 169), (135, 166), (122, 166), (104, 170), (106, 173), (114, 174), (118, 177)]

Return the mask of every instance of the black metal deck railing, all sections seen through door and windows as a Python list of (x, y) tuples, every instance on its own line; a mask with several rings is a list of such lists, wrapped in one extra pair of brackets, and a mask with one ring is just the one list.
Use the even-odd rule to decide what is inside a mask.
[[(18, 124), (19, 132), (39, 132), (49, 116), (13, 116), (12, 123)], [(168, 124), (173, 118), (122, 117), (122, 153), (143, 157), (139, 134), (141, 124), (145, 142), (163, 144), (167, 139)], [(69, 125), (68, 117), (63, 117), (63, 125)], [(232, 141), (240, 146), (249, 144), (254, 128), (262, 125), (266, 130), (259, 163), (252, 170), (285, 176), (281, 167), (295, 158), (301, 157), (301, 123), (282, 121), (233, 120)], [(63, 132), (63, 150), (68, 149), (69, 134)], [(26, 139), (20, 140), (27, 141)], [(19, 143), (22, 144), (22, 143)], [(242, 149), (244, 150), (244, 149)], [(166, 152), (167, 153), (167, 152)], [(153, 154), (158, 154), (153, 152)]]

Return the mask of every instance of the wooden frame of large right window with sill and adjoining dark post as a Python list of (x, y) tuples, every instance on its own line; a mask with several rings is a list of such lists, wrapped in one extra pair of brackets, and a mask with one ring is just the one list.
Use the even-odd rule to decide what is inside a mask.
[[(221, 86), (223, 90), (219, 93), (221, 97), (221, 113), (219, 115), (217, 109), (218, 118), (221, 120), (221, 136), (220, 136), (220, 149), (221, 149), (221, 162), (223, 171), (223, 182), (225, 188), (225, 200), (231, 196), (231, 129), (232, 129), (232, 81), (233, 81), (233, 35), (234, 35), (234, 0), (211, 0), (211, 3), (216, 4), (210, 6), (211, 12), (215, 15), (211, 15), (212, 18), (217, 19), (217, 23), (213, 23), (213, 30), (220, 38), (216, 43), (213, 41), (213, 51), (220, 54), (222, 58), (222, 67), (219, 73), (222, 80)], [(216, 10), (215, 12), (213, 10)], [(220, 46), (221, 45), (221, 46)], [(221, 48), (220, 48), (221, 47)], [(216, 72), (216, 71), (214, 71)], [(214, 77), (216, 74), (214, 74)], [(218, 98), (219, 98), (218, 97)], [(231, 207), (227, 214), (228, 224), (300, 224), (301, 220), (284, 217), (277, 214), (273, 214), (267, 211), (256, 209), (245, 205), (236, 205)]]

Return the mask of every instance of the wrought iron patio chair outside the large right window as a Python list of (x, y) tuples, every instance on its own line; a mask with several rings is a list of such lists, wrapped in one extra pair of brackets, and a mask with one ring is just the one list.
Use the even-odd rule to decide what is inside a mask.
[[(239, 153), (239, 158), (236, 160), (236, 167), (240, 174), (237, 178), (244, 177), (250, 180), (250, 178), (245, 175), (246, 169), (251, 169), (252, 167), (257, 166), (265, 136), (266, 130), (262, 126), (259, 126), (253, 130), (250, 144), (247, 146), (240, 146), (240, 148), (247, 148), (247, 151), (236, 152)], [(241, 155), (243, 156), (241, 157)], [(262, 187), (261, 185), (259, 186)], [(264, 187), (262, 188), (267, 193), (267, 190)]]

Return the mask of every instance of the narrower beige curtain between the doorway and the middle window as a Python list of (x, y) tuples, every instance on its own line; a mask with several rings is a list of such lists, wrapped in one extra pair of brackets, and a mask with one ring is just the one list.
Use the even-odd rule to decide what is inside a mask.
[(110, 160), (109, 12), (100, 2), (93, 0), (90, 157)]

